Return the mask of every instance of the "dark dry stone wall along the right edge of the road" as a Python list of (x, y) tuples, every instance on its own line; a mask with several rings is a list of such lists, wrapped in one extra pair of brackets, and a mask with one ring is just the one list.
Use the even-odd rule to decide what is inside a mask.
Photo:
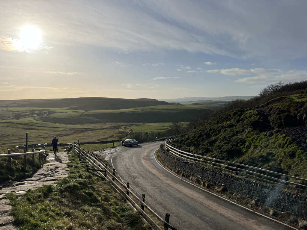
[(286, 211), (298, 218), (307, 220), (307, 197), (177, 158), (165, 151), (162, 144), (160, 146), (160, 156), (165, 163), (175, 170), (198, 177), (214, 186), (224, 186), (232, 193), (263, 203), (264, 208), (270, 207), (280, 212)]

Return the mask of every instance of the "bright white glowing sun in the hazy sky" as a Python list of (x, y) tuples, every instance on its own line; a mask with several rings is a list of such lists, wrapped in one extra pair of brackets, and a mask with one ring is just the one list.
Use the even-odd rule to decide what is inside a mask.
[(20, 39), (15, 47), (17, 50), (29, 52), (39, 49), (41, 43), (41, 31), (34, 26), (25, 26), (21, 29)]

